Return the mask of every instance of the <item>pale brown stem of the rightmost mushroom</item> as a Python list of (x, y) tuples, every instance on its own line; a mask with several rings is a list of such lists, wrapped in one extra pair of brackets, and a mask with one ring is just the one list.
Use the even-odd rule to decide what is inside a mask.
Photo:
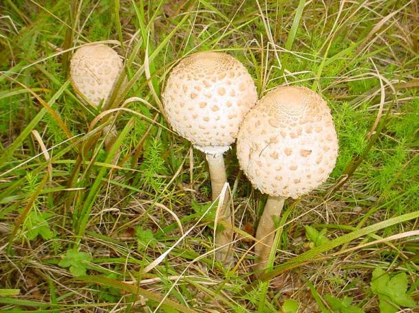
[(264, 213), (259, 220), (256, 231), (255, 255), (257, 263), (254, 266), (255, 275), (263, 274), (268, 265), (270, 249), (275, 239), (275, 220), (281, 215), (285, 198), (269, 196)]

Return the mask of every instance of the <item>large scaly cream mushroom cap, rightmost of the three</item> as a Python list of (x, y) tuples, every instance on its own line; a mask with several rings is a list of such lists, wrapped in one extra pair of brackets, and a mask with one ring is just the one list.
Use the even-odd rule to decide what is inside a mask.
[(338, 148), (330, 108), (301, 86), (267, 93), (246, 115), (237, 137), (237, 157), (250, 182), (284, 198), (299, 198), (325, 182)]

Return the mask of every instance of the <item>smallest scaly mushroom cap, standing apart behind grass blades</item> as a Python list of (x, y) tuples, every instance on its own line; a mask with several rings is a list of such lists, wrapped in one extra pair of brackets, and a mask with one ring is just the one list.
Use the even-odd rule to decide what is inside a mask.
[(122, 59), (107, 45), (85, 45), (72, 56), (70, 73), (72, 85), (91, 104), (107, 101), (122, 71)]

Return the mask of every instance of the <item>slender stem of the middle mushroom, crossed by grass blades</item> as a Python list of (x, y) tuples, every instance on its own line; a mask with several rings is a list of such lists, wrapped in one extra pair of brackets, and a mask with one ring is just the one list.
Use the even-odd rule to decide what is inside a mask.
[[(211, 189), (213, 192), (213, 201), (217, 200), (221, 194), (224, 184), (227, 182), (226, 167), (224, 165), (224, 157), (222, 153), (205, 154), (206, 161), (211, 177)], [(228, 193), (225, 194), (224, 199), (219, 199), (222, 202), (221, 210), (219, 211), (219, 220), (223, 220), (228, 224), (233, 225), (231, 221), (230, 210), (228, 210)], [(215, 257), (226, 264), (231, 261), (231, 242), (233, 241), (233, 227), (226, 227), (215, 232), (215, 247), (218, 248)], [(219, 248), (222, 247), (222, 248)]]

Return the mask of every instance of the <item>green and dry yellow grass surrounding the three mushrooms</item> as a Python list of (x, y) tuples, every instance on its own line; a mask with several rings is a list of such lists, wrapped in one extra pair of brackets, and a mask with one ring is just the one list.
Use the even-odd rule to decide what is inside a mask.
[[(418, 32), (407, 0), (3, 1), (1, 310), (417, 312)], [(74, 48), (94, 41), (125, 58), (97, 119), (67, 77)], [(215, 262), (205, 157), (162, 112), (175, 62), (206, 50), (241, 60), (260, 96), (281, 84), (321, 93), (339, 135), (330, 180), (288, 200), (261, 281), (252, 235), (266, 196), (233, 147), (235, 264)], [(380, 270), (398, 286), (389, 294)]]

